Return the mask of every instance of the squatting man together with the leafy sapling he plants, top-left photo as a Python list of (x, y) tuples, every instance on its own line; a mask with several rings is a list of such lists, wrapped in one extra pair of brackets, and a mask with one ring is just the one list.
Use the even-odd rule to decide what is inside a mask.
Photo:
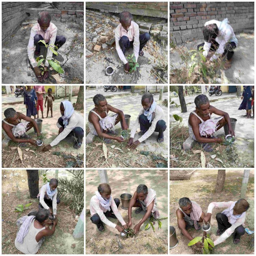
[[(66, 42), (66, 38), (57, 35), (57, 27), (51, 22), (51, 14), (47, 11), (39, 12), (37, 24), (31, 28), (27, 52), (30, 63), (34, 69), (35, 76), (40, 82), (43, 82), (49, 76), (49, 65), (58, 73), (63, 73), (57, 60), (52, 60), (52, 56), (58, 55), (57, 50)], [(35, 51), (34, 51), (35, 45)], [(41, 46), (45, 46), (45, 56), (40, 55)], [(39, 56), (37, 60), (34, 58)], [(41, 58), (41, 59), (40, 59)], [(40, 60), (39, 60), (40, 59)], [(41, 67), (42, 61), (45, 61), (44, 67)], [(61, 72), (62, 70), (62, 72)]]

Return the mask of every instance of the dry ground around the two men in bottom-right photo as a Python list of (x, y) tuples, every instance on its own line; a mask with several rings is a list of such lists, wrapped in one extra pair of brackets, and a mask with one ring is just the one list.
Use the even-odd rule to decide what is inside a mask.
[[(171, 172), (171, 171), (170, 171)], [(197, 202), (202, 211), (206, 214), (208, 205), (211, 202), (228, 202), (240, 199), (240, 191), (244, 170), (226, 170), (226, 180), (224, 190), (221, 193), (215, 193), (217, 180), (217, 170), (196, 170), (190, 180), (170, 181), (170, 226), (175, 227), (176, 236), (179, 244), (170, 250), (170, 254), (202, 254), (202, 250), (197, 249), (195, 245), (188, 246), (189, 240), (181, 234), (177, 225), (176, 210), (179, 208), (179, 200), (182, 197), (188, 197)], [(254, 230), (254, 171), (250, 171), (250, 177), (246, 190), (245, 199), (250, 204), (246, 211), (245, 228)], [(216, 214), (222, 212), (225, 208), (215, 208), (211, 217), (211, 230), (208, 232), (211, 239), (215, 241), (218, 236)], [(192, 237), (203, 236), (202, 229), (196, 230), (189, 228), (188, 232)], [(216, 245), (211, 254), (254, 254), (254, 248), (251, 248), (251, 241), (254, 234), (248, 235), (246, 232), (241, 236), (240, 243), (233, 243), (233, 235), (224, 242)], [(253, 242), (254, 244), (254, 242)]]

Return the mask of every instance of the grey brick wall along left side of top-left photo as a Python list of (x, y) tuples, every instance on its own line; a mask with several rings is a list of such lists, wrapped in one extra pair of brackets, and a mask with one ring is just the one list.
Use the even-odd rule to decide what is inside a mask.
[(2, 2), (2, 42), (6, 42), (10, 35), (19, 28), (28, 17), (27, 8), (33, 8), (42, 2)]

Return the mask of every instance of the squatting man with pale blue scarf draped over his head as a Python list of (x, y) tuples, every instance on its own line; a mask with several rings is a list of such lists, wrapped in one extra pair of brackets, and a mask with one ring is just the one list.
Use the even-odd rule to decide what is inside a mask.
[(84, 138), (84, 117), (74, 110), (73, 104), (68, 101), (60, 102), (60, 114), (57, 121), (59, 135), (48, 145), (44, 146), (42, 151), (46, 152), (57, 145), (66, 137), (75, 137), (73, 148), (79, 149), (82, 146)]

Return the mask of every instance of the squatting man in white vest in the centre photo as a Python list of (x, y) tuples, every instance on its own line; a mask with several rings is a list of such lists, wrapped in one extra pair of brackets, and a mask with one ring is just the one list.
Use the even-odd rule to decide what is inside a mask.
[[(111, 143), (113, 140), (123, 142), (124, 138), (109, 135), (116, 135), (118, 133), (115, 131), (115, 125), (119, 122), (123, 130), (128, 129), (123, 111), (108, 104), (102, 94), (96, 94), (93, 97), (93, 102), (95, 108), (88, 115), (90, 133), (103, 138), (105, 143)], [(109, 111), (116, 114), (111, 116), (109, 115)]]

